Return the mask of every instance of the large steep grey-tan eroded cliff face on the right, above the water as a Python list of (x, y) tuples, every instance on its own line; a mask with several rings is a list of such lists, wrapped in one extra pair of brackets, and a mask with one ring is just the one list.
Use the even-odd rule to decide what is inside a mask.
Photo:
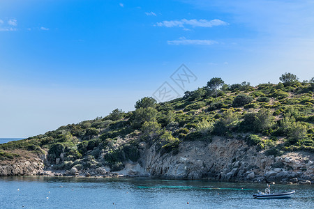
[[(313, 161), (296, 162), (296, 157), (266, 156), (244, 141), (215, 137), (204, 141), (184, 141), (179, 153), (160, 155), (153, 145), (144, 150), (142, 164), (146, 171), (158, 178), (215, 179), (253, 182), (296, 182), (313, 178)], [(310, 158), (313, 156), (310, 156)], [(300, 166), (292, 169), (295, 164)], [(274, 165), (274, 167), (273, 167)], [(281, 168), (278, 168), (278, 165)], [(290, 168), (289, 171), (285, 168)], [(304, 171), (304, 168), (307, 169)], [(303, 169), (303, 171), (300, 171)]]

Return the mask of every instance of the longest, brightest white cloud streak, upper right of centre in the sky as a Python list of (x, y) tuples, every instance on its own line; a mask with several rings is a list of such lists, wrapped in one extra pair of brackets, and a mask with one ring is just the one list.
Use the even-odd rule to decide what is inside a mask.
[(157, 22), (157, 26), (165, 26), (168, 28), (177, 26), (177, 27), (184, 27), (184, 25), (189, 25), (193, 27), (212, 27), (212, 26), (220, 26), (220, 25), (227, 25), (227, 22), (224, 22), (223, 20), (170, 20), (170, 21), (163, 21), (163, 22)]

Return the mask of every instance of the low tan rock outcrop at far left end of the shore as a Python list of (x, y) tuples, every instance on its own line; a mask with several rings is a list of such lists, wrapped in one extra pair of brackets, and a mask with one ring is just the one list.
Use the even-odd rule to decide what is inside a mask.
[(24, 161), (15, 164), (0, 165), (0, 176), (33, 176), (43, 172), (43, 162)]

